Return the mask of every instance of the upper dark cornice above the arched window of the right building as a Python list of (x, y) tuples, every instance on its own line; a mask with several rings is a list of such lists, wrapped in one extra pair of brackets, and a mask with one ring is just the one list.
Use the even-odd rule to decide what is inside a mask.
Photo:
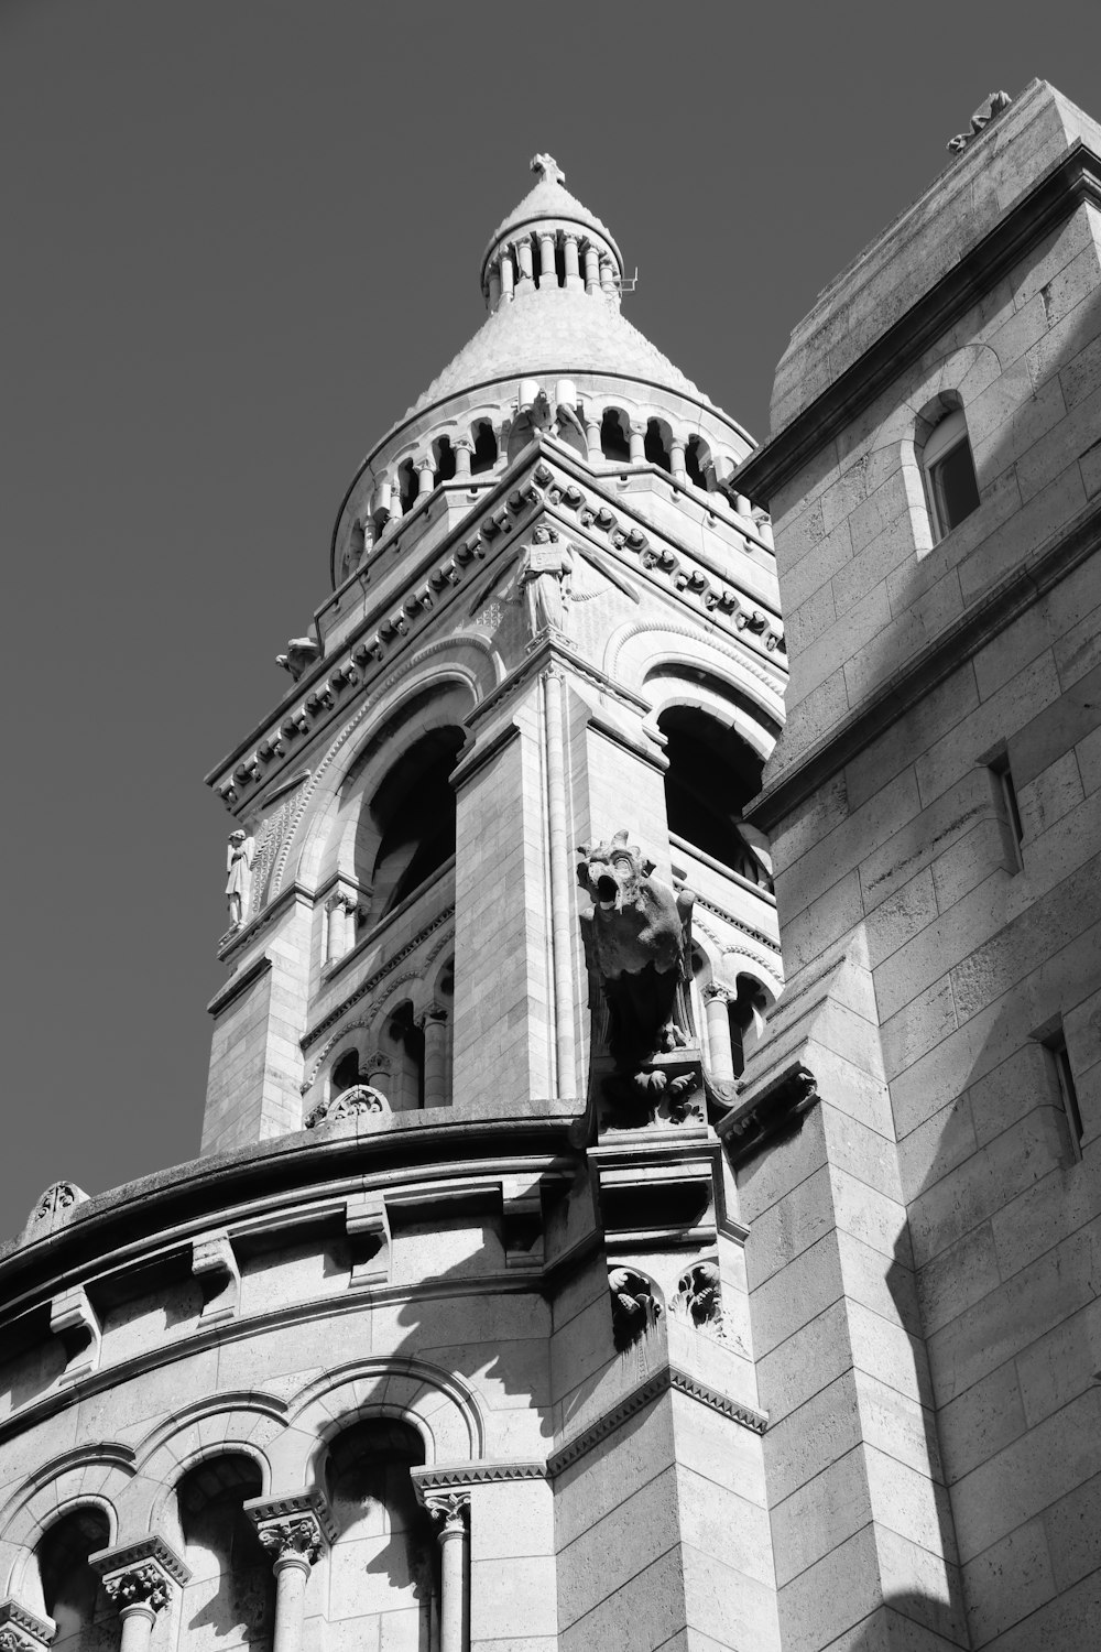
[(1101, 206), (1101, 157), (1075, 139), (1063, 160), (1055, 162), (852, 367), (791, 425), (743, 459), (736, 472), (738, 489), (754, 504), (769, 504), (815, 453), (852, 425), (1081, 202)]

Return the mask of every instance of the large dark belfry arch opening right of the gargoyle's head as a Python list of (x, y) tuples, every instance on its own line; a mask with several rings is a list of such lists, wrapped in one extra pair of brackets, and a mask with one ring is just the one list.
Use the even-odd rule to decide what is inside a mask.
[(670, 705), (657, 720), (669, 740), (665, 806), (669, 829), (688, 846), (763, 889), (768, 867), (741, 829), (741, 814), (761, 790), (763, 762), (733, 729), (695, 705)]

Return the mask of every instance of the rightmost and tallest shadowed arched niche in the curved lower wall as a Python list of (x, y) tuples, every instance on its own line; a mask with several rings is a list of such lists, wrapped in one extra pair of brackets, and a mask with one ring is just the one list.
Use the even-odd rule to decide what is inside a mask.
[(355, 1644), (429, 1652), (437, 1644), (439, 1563), (409, 1469), (424, 1442), (406, 1422), (355, 1422), (328, 1447), (325, 1490), (337, 1525), (328, 1561), (332, 1619), (355, 1619)]

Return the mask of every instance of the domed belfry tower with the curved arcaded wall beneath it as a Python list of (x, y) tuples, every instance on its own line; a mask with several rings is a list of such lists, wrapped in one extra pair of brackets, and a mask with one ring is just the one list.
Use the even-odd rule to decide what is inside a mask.
[(0, 1259), (5, 1647), (779, 1645), (728, 1123), (781, 990), (751, 443), (550, 157), (234, 818), (201, 1155)]

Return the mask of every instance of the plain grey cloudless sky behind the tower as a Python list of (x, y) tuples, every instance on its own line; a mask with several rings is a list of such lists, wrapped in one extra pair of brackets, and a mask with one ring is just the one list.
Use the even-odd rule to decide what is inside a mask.
[(535, 150), (754, 434), (817, 291), (1101, 5), (0, 0), (0, 1234), (198, 1150), (229, 818), (361, 454), (482, 320)]

